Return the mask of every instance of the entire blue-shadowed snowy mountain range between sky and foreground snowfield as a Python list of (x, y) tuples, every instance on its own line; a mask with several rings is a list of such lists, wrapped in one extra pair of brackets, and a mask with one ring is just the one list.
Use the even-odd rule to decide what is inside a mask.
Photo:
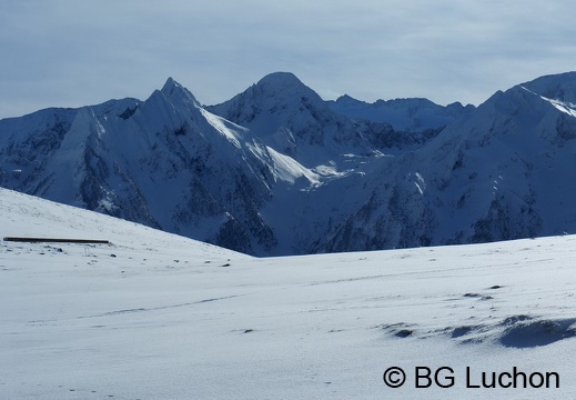
[(477, 108), (284, 72), (202, 106), (169, 79), (0, 120), (0, 186), (255, 256), (488, 242), (576, 232), (575, 139), (576, 72)]

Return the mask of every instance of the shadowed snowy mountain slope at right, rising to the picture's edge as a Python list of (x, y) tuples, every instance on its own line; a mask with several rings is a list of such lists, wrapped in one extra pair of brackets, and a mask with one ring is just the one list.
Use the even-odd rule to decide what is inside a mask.
[(575, 81), (568, 73), (498, 92), (414, 153), (380, 167), (365, 183), (371, 197), (317, 250), (574, 232), (576, 120), (565, 99)]

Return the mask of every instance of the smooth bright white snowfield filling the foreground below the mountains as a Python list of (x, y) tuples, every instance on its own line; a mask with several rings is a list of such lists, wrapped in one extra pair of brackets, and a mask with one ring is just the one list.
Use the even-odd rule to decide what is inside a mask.
[(576, 393), (573, 236), (256, 259), (6, 189), (0, 236), (111, 241), (1, 242), (2, 399)]

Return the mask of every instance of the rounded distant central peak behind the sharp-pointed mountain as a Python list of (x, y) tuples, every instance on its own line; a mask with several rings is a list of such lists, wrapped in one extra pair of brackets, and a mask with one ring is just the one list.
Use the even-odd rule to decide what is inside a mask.
[(344, 156), (348, 153), (403, 152), (435, 134), (395, 131), (390, 123), (340, 116), (289, 72), (271, 73), (243, 93), (208, 110), (250, 128), (264, 143), (307, 168), (329, 161), (350, 163)]

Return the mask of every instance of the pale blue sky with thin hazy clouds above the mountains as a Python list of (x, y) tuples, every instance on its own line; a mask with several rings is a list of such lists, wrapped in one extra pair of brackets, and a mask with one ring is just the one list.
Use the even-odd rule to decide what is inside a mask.
[(576, 70), (567, 0), (0, 0), (0, 118), (168, 77), (202, 103), (290, 71), (324, 99), (474, 103)]

